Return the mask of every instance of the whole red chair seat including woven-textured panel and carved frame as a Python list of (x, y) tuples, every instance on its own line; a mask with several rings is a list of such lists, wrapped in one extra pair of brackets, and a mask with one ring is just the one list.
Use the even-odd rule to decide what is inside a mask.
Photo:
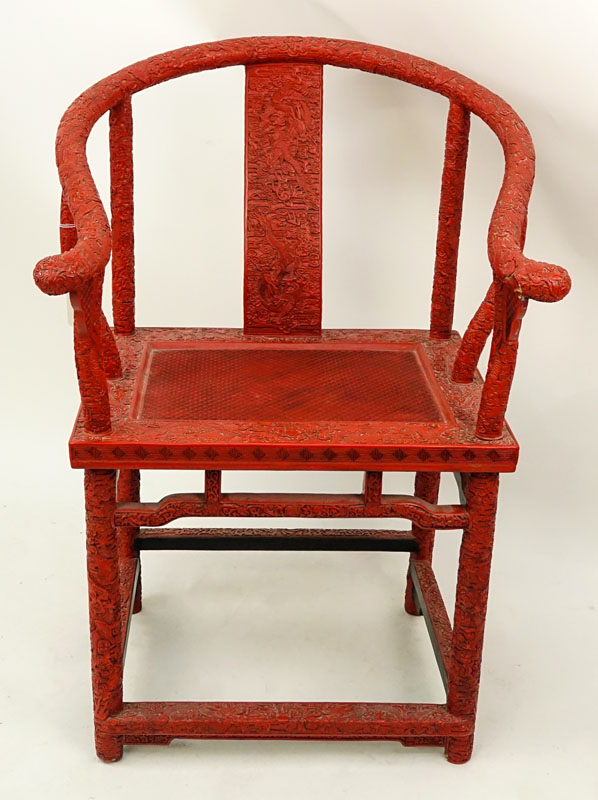
[(513, 471), (518, 445), (475, 436), (482, 379), (451, 381), (460, 342), (420, 330), (319, 337), (138, 328), (117, 336), (112, 430), (70, 441), (74, 467)]

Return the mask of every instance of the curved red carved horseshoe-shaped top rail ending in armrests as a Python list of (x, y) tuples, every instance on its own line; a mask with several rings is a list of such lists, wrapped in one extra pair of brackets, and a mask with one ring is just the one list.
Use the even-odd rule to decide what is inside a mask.
[[(506, 157), (505, 179), (489, 232), (492, 267), (534, 299), (558, 300), (570, 288), (565, 270), (521, 254), (522, 234), (534, 177), (529, 133), (497, 95), (450, 69), (384, 47), (309, 37), (255, 37), (186, 47), (163, 53), (105, 78), (82, 94), (63, 117), (57, 138), (61, 182), (77, 227), (76, 252), (51, 256), (36, 268), (36, 281), (50, 294), (76, 289), (102, 271), (110, 253), (106, 215), (85, 157), (94, 123), (127, 95), (204, 69), (268, 62), (313, 62), (376, 72), (439, 92), (477, 114), (498, 136)], [(75, 201), (71, 203), (71, 201)]]

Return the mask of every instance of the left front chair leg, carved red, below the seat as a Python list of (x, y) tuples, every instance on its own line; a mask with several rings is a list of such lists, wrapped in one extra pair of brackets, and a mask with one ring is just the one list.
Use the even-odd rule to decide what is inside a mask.
[(96, 752), (102, 761), (122, 757), (121, 736), (105, 721), (122, 709), (122, 630), (118, 544), (114, 527), (116, 471), (85, 470), (87, 580)]

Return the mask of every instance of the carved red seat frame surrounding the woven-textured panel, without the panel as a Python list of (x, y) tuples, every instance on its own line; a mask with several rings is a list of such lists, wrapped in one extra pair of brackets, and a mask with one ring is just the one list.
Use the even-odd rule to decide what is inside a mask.
[[(349, 469), (434, 471), (442, 466), (461, 471), (512, 471), (518, 447), (508, 429), (491, 446), (475, 437), (482, 381), (453, 382), (452, 364), (459, 337), (430, 340), (426, 331), (323, 331), (317, 338), (293, 342), (402, 343), (420, 342), (434, 377), (448, 403), (454, 423), (401, 425), (384, 422), (193, 423), (168, 420), (141, 425), (131, 414), (135, 381), (146, 343), (158, 342), (281, 342), (286, 337), (244, 337), (229, 329), (137, 329), (121, 336), (124, 376), (111, 385), (113, 430), (93, 436), (80, 418), (71, 439), (74, 466), (126, 468), (144, 464), (178, 469)], [(394, 440), (394, 444), (393, 444)]]

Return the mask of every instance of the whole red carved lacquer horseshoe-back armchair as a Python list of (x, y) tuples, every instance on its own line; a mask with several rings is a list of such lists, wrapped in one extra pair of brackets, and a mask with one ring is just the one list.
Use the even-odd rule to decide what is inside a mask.
[[(131, 97), (162, 81), (246, 66), (244, 327), (136, 328)], [(322, 330), (323, 65), (375, 72), (448, 99), (429, 330)], [(85, 156), (110, 115), (111, 222)], [(494, 131), (505, 173), (488, 235), (490, 288), (463, 338), (452, 330), (470, 114)], [(518, 445), (504, 421), (528, 299), (564, 297), (569, 276), (526, 258), (534, 151), (503, 100), (462, 75), (358, 42), (252, 38), (187, 47), (100, 81), (64, 115), (61, 255), (35, 270), (69, 293), (81, 410), (70, 440), (85, 470), (96, 747), (173, 738), (393, 739), (473, 745), (498, 477)], [(114, 328), (101, 309), (112, 253)], [(477, 362), (489, 336), (485, 379)], [(205, 490), (140, 502), (142, 469), (205, 470)], [(359, 470), (359, 495), (225, 494), (226, 469)], [(414, 496), (382, 493), (383, 471), (415, 473)], [(443, 472), (460, 504), (439, 505)], [(161, 529), (181, 517), (400, 518), (395, 530)], [(454, 620), (432, 570), (435, 530), (463, 530)], [(446, 703), (123, 702), (143, 549), (408, 551), (405, 608), (423, 614)]]

